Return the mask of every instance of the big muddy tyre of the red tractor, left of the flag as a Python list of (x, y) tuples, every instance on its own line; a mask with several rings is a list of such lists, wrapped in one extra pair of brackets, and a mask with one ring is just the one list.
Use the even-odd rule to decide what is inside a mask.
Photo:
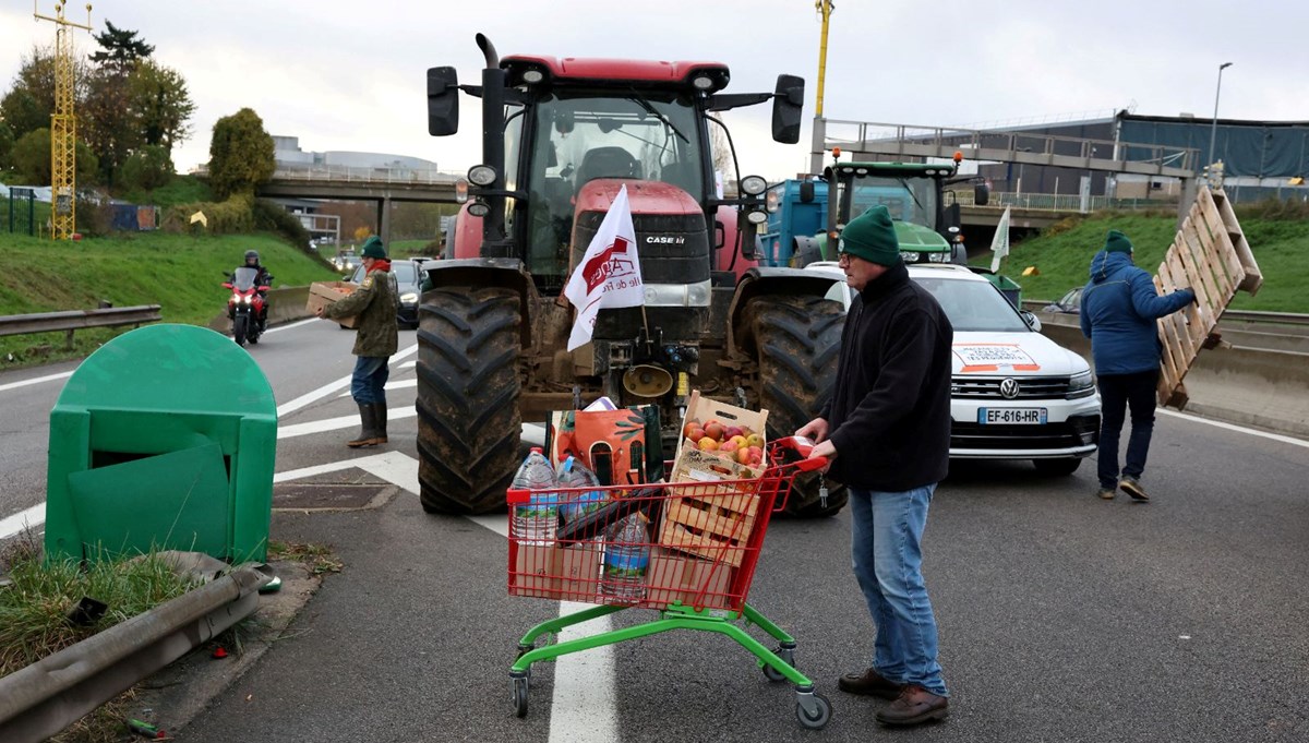
[(427, 513), (503, 511), (518, 468), (518, 294), (441, 288), (418, 331), (419, 501)]

